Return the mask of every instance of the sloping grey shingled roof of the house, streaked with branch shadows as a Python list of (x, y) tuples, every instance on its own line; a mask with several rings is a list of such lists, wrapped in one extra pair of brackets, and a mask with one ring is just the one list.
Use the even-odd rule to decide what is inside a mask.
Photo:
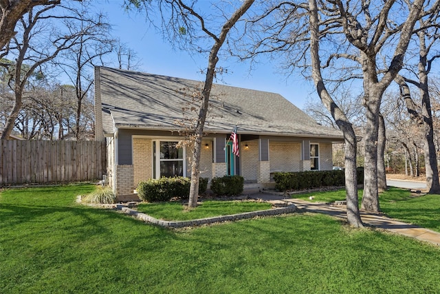
[[(179, 130), (182, 119), (197, 117), (191, 107), (197, 106), (193, 93), (200, 81), (109, 67), (97, 72), (104, 133), (114, 127)], [(204, 131), (228, 134), (237, 123), (239, 134), (342, 138), (280, 94), (214, 84)]]

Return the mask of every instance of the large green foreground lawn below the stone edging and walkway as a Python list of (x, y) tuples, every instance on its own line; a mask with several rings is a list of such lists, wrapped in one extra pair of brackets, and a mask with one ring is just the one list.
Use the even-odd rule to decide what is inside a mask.
[(438, 247), (294, 213), (173, 231), (81, 206), (90, 185), (0, 194), (0, 293), (438, 293)]

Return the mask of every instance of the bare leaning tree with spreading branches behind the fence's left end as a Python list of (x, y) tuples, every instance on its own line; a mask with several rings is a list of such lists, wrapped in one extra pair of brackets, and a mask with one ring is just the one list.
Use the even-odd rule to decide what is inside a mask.
[[(14, 105), (8, 114), (1, 139), (8, 138), (12, 132), (23, 105), (23, 92), (30, 76), (48, 61), (52, 61), (60, 52), (80, 43), (83, 36), (102, 25), (100, 22), (88, 19), (87, 25), (78, 29), (74, 23), (79, 20), (84, 21), (84, 15), (69, 7), (52, 11), (55, 7), (56, 4), (44, 6), (40, 10), (31, 8), (28, 14), (20, 19), (19, 33), (12, 38), (9, 47), (9, 54), (14, 56), (15, 62), (1, 63), (1, 66), (6, 67), (10, 73), (9, 84), (14, 92)], [(51, 11), (54, 13), (51, 14)], [(52, 19), (62, 19), (66, 25), (65, 30), (53, 26)]]

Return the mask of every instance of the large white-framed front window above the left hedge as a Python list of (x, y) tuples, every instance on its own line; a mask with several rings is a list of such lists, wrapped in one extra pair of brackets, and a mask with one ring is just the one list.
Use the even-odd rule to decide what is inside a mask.
[(153, 144), (153, 178), (186, 176), (185, 150), (176, 141)]

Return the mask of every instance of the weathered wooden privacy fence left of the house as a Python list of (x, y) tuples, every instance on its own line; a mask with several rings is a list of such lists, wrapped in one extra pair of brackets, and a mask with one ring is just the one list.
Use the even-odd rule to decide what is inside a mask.
[(105, 148), (97, 141), (0, 140), (0, 185), (101, 179)]

